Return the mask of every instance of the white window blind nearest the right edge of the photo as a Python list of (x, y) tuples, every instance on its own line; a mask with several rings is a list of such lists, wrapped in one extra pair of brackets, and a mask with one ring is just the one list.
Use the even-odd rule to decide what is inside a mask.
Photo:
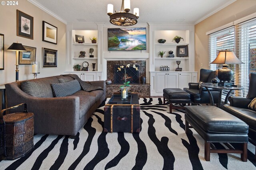
[[(256, 72), (256, 18), (239, 23), (237, 26), (237, 47), (239, 59), (238, 84), (244, 87), (246, 96), (249, 89), (249, 74)], [(238, 92), (238, 96), (243, 96)]]

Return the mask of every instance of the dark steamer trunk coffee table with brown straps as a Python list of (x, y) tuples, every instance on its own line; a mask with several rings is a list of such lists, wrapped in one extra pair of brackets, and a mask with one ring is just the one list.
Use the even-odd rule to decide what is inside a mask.
[(138, 93), (130, 93), (122, 101), (115, 93), (104, 107), (104, 132), (140, 132), (140, 104)]

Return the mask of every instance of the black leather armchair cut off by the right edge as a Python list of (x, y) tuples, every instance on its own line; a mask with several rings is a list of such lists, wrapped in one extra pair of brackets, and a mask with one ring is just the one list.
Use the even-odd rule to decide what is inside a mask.
[[(229, 96), (228, 101), (230, 105), (223, 104), (221, 105), (221, 109), (227, 111), (228, 113), (238, 117), (245, 123), (249, 125), (248, 137), (250, 143), (256, 146), (256, 111), (253, 111), (248, 108), (248, 105), (254, 98), (256, 98), (256, 73), (251, 73), (249, 75), (249, 90), (246, 98), (244, 97), (236, 97)], [(256, 159), (256, 151), (255, 151), (255, 159)]]

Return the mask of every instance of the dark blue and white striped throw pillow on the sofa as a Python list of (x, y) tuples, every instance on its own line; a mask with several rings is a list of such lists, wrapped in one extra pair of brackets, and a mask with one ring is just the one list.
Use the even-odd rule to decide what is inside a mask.
[(71, 80), (64, 83), (53, 83), (52, 92), (54, 97), (64, 97), (81, 90), (78, 80)]

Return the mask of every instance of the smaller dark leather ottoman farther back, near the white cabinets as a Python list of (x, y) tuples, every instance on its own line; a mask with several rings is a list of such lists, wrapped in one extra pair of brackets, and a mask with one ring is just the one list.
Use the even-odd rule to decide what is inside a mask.
[[(184, 106), (190, 106), (190, 94), (180, 88), (164, 88), (164, 104), (165, 100), (170, 103), (170, 113), (172, 109), (185, 109)], [(179, 104), (181, 107), (176, 107), (174, 104)], [(184, 105), (184, 106), (183, 106)]]

